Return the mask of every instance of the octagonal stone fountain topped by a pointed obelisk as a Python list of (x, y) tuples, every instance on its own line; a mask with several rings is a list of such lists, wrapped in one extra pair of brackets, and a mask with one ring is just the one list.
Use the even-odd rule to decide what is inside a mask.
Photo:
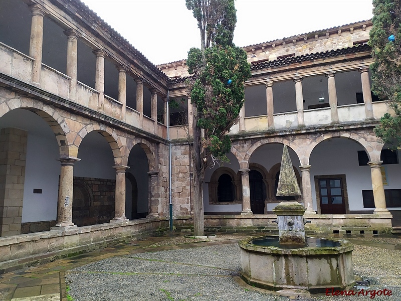
[(344, 240), (305, 238), (306, 208), (295, 201), (300, 196), (287, 146), (284, 145), (277, 196), (273, 210), (279, 235), (249, 237), (240, 241), (241, 277), (248, 284), (271, 290), (302, 289), (324, 292), (355, 284), (353, 245)]

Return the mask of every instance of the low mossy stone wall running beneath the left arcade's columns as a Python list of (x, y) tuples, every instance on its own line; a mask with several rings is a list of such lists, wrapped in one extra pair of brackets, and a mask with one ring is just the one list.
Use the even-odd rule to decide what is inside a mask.
[(140, 239), (168, 229), (168, 220), (149, 218), (0, 238), (0, 273)]

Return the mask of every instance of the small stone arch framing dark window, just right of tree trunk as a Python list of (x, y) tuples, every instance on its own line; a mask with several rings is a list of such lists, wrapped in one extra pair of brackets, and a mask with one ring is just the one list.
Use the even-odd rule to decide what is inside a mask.
[[(241, 174), (238, 172), (237, 174), (229, 167), (219, 167), (217, 170), (215, 170), (211, 176), (210, 182), (208, 182), (209, 186), (209, 203), (210, 204), (218, 204), (218, 186), (219, 186), (219, 178), (227, 174), (231, 177), (233, 186), (234, 186), (234, 201), (230, 202), (230, 204), (233, 203), (241, 203), (242, 201), (242, 194), (241, 194)], [(221, 204), (221, 203), (220, 203)]]

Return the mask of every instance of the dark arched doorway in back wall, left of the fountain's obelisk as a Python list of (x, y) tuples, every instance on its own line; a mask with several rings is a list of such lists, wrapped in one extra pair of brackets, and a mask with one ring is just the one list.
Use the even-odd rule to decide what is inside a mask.
[(263, 176), (256, 170), (249, 172), (249, 187), (251, 190), (251, 210), (253, 214), (265, 213), (266, 188)]

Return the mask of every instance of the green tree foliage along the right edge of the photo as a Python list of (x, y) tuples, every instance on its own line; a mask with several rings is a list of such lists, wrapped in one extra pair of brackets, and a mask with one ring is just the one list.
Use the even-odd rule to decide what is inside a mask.
[[(393, 148), (401, 147), (401, 2), (373, 0), (373, 27), (369, 45), (372, 47), (372, 90), (388, 99), (395, 115), (386, 113), (374, 131)], [(395, 40), (389, 41), (393, 35)]]

